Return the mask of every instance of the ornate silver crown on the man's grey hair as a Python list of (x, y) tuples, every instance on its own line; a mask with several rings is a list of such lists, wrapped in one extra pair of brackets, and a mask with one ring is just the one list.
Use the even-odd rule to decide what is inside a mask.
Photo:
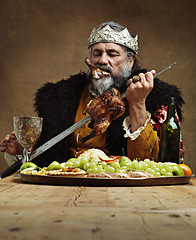
[(109, 25), (106, 25), (101, 30), (94, 28), (88, 40), (89, 47), (94, 43), (112, 42), (128, 47), (136, 54), (138, 53), (138, 35), (133, 38), (127, 28), (121, 32), (113, 30)]

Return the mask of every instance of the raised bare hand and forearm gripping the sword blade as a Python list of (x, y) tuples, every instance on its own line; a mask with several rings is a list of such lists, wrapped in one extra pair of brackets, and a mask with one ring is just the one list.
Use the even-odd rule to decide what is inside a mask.
[(131, 83), (127, 88), (126, 99), (129, 105), (132, 132), (143, 126), (146, 121), (147, 115), (145, 101), (154, 86), (154, 74), (154, 70), (145, 74), (140, 73), (140, 81), (137, 81), (136, 83), (130, 81)]

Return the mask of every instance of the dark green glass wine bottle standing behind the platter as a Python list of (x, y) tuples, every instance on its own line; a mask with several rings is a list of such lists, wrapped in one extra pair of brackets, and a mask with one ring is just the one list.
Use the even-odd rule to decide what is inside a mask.
[(175, 118), (175, 99), (171, 97), (171, 103), (167, 109), (167, 119), (160, 130), (160, 162), (180, 163), (180, 125)]

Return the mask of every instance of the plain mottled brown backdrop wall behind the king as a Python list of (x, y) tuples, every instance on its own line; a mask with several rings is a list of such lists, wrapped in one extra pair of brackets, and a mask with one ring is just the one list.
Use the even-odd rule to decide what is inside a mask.
[[(0, 139), (13, 116), (35, 116), (33, 99), (45, 82), (85, 71), (94, 26), (113, 20), (139, 34), (142, 66), (177, 62), (161, 79), (183, 93), (185, 162), (196, 173), (194, 0), (0, 0)], [(0, 153), (0, 171), (7, 167)]]

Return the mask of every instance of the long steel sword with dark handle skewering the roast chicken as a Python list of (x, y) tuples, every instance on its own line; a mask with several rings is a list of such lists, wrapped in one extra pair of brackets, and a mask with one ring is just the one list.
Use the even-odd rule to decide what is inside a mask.
[[(159, 76), (163, 72), (167, 71), (168, 69), (170, 69), (174, 64), (176, 64), (176, 62), (174, 62), (174, 63), (170, 64), (169, 66), (167, 66), (166, 68), (163, 68), (162, 70), (160, 70), (158, 73), (156, 73), (154, 75), (154, 78)], [(121, 97), (124, 99), (126, 97), (126, 92), (122, 93)], [(69, 136), (71, 133), (73, 133), (74, 131), (76, 131), (78, 128), (82, 127), (86, 123), (90, 122), (91, 120), (92, 120), (91, 116), (88, 115), (85, 118), (83, 118), (82, 120), (80, 120), (79, 122), (75, 123), (71, 127), (67, 128), (66, 130), (64, 130), (63, 132), (58, 134), (57, 136), (53, 137), (52, 139), (50, 139), (49, 141), (47, 141), (46, 143), (44, 143), (43, 145), (41, 145), (40, 147), (35, 149), (30, 154), (29, 161), (32, 161), (34, 158), (38, 157), (43, 152), (47, 151), (49, 148), (53, 147), (55, 144), (57, 144), (58, 142), (63, 140), (65, 137)], [(8, 167), (3, 173), (1, 173), (1, 178), (9, 176), (12, 173), (14, 173), (15, 171), (17, 171), (19, 169), (19, 167), (22, 165), (22, 162), (18, 161), (17, 163), (18, 164), (15, 163), (15, 167), (13, 166), (14, 165), (13, 164), (10, 167)], [(10, 169), (11, 173), (10, 173), (9, 169)]]

